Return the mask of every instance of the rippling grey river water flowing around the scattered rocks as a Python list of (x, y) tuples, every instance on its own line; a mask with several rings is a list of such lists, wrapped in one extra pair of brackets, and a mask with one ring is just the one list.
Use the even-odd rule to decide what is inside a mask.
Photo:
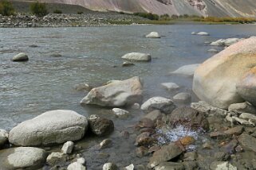
[[(144, 38), (146, 33), (152, 31), (159, 32), (163, 37)], [(191, 35), (193, 31), (206, 31), (211, 36)], [(124, 129), (132, 132), (132, 126), (142, 113), (130, 110), (132, 115), (129, 118), (119, 119), (109, 114), (109, 109), (81, 106), (80, 101), (86, 94), (75, 91), (74, 86), (78, 83), (100, 86), (110, 79), (128, 79), (138, 75), (144, 80), (144, 100), (156, 95), (171, 98), (179, 91), (191, 92), (192, 79), (168, 73), (185, 64), (202, 63), (212, 56), (207, 52), (212, 47), (204, 44), (205, 41), (254, 35), (256, 25), (0, 29), (0, 128), (10, 130), (19, 122), (47, 110), (75, 110), (85, 116), (100, 114), (115, 123), (116, 132), (111, 136), (115, 145), (104, 151), (111, 153), (110, 156), (100, 153), (103, 158), (99, 160), (92, 155), (96, 152), (90, 152), (89, 167), (96, 169), (107, 160), (116, 160), (120, 165), (134, 163), (137, 161), (133, 152), (134, 137), (127, 142), (121, 139), (119, 132)], [(30, 47), (32, 44), (37, 47)], [(11, 62), (10, 59), (18, 52), (27, 52), (30, 61)], [(152, 62), (122, 68), (120, 56), (127, 52), (151, 53)], [(55, 53), (61, 54), (61, 57), (51, 56)], [(175, 82), (181, 88), (179, 91), (166, 91), (160, 85), (165, 82)], [(88, 152), (88, 149), (85, 151)]]

